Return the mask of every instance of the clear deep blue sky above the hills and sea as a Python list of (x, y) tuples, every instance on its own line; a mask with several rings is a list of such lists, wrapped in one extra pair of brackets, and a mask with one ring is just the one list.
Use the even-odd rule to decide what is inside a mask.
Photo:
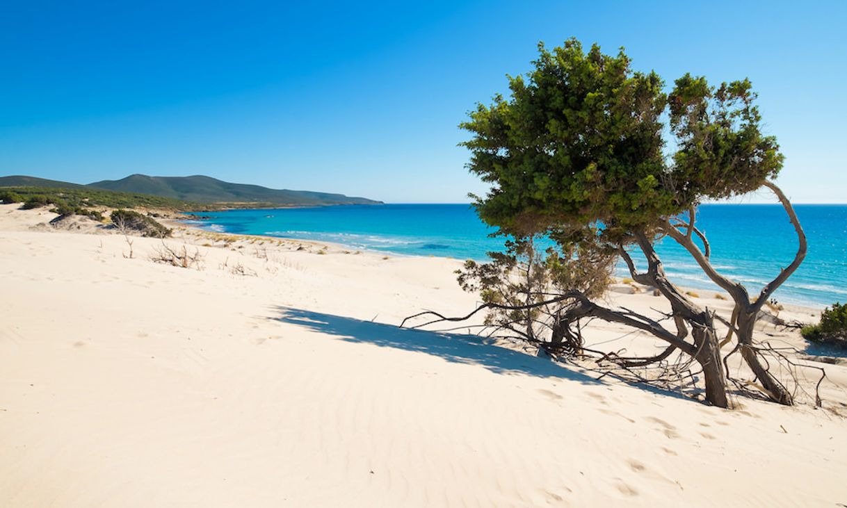
[[(796, 202), (847, 202), (847, 2), (17, 2), (0, 175), (208, 174), (386, 202), (484, 191), (475, 102), (569, 36), (668, 82), (749, 77)], [(754, 198), (755, 199), (755, 198)]]

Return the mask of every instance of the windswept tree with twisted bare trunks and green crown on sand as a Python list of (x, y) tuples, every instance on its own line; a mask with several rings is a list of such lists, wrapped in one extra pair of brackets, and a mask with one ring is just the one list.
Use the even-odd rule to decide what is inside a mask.
[[(726, 407), (718, 317), (667, 278), (655, 246), (670, 237), (734, 299), (734, 320), (728, 322), (737, 337), (733, 352), (740, 351), (768, 398), (791, 404), (789, 389), (762, 362), (753, 329), (761, 306), (802, 262), (805, 236), (772, 183), (783, 156), (776, 139), (761, 132), (750, 81), (711, 86), (684, 75), (668, 92), (656, 73), (635, 72), (623, 49), (606, 55), (595, 45), (585, 52), (571, 39), (552, 51), (540, 45), (534, 69), (510, 76), (509, 89), (510, 97), (479, 104), (461, 125), (473, 135), (462, 143), (471, 152), (468, 168), (491, 185), (486, 196), (474, 196), (479, 217), (514, 239), (505, 254), (484, 265), (468, 263), (460, 277), (466, 288), (482, 291), (492, 324), (545, 348), (570, 338), (569, 351), (579, 349), (580, 323), (587, 318), (643, 330), (667, 349), (618, 362), (646, 365), (675, 352), (689, 356), (702, 369), (706, 400)], [(751, 297), (711, 265), (696, 211), (702, 202), (762, 187), (783, 204), (800, 247), (794, 261)], [(545, 257), (534, 251), (527, 257), (527, 242), (538, 237), (554, 246)], [(667, 299), (668, 319), (597, 301), (591, 277), (607, 275), (620, 258), (635, 281)], [(536, 267), (534, 279), (507, 282), (516, 267)], [(581, 275), (556, 279), (556, 270)], [(536, 329), (546, 328), (546, 334), (534, 332), (536, 324), (544, 324)]]

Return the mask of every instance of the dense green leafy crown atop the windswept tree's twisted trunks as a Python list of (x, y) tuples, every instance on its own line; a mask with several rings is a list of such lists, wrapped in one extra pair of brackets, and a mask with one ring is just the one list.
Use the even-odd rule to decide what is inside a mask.
[(685, 75), (666, 94), (623, 50), (584, 52), (575, 39), (540, 45), (533, 63), (509, 78), (511, 97), (479, 104), (461, 124), (473, 134), (462, 143), (468, 168), (492, 184), (475, 207), (503, 234), (601, 226), (617, 243), (706, 198), (755, 190), (781, 168), (748, 80), (716, 88)]

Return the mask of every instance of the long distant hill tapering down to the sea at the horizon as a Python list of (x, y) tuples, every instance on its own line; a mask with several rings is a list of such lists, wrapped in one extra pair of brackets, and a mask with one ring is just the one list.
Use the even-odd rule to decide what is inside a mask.
[(260, 185), (233, 184), (208, 176), (147, 176), (132, 174), (125, 179), (103, 180), (90, 187), (108, 191), (135, 192), (188, 202), (271, 204), (271, 205), (352, 205), (379, 204), (363, 197), (327, 192), (268, 189)]

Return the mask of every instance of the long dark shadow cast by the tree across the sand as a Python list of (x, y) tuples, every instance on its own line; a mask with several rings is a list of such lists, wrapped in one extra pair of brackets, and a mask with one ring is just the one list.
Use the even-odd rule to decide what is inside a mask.
[[(271, 317), (280, 323), (294, 324), (321, 334), (334, 335), (343, 340), (404, 351), (417, 351), (438, 356), (447, 362), (479, 365), (493, 373), (521, 373), (540, 378), (563, 378), (582, 384), (602, 385), (606, 381), (580, 373), (549, 359), (530, 356), (520, 351), (490, 344), (472, 334), (446, 334), (424, 330), (401, 329), (395, 325), (373, 323), (353, 317), (335, 316), (285, 306), (274, 306), (278, 315)], [(634, 384), (659, 395), (686, 398), (674, 392)]]

